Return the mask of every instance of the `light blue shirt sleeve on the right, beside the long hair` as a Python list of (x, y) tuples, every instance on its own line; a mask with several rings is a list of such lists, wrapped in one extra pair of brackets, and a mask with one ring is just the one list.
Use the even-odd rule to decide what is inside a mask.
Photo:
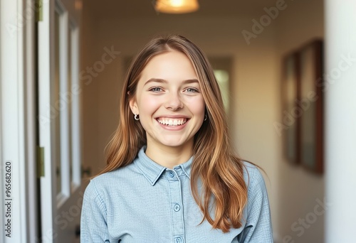
[(239, 234), (239, 242), (273, 243), (268, 195), (263, 176), (258, 168), (254, 167), (249, 170), (249, 181), (246, 225)]

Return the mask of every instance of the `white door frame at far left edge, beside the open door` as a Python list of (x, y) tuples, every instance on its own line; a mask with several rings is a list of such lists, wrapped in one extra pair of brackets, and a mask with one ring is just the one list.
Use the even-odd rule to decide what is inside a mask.
[[(34, 66), (36, 6), (33, 0), (0, 0), (0, 4), (1, 188), (5, 187), (6, 169), (9, 171), (6, 162), (11, 162), (11, 196), (5, 198), (4, 193), (0, 195), (1, 222), (11, 220), (11, 238), (1, 230), (0, 241), (35, 243), (38, 239)], [(12, 199), (10, 211), (5, 206), (6, 199)], [(6, 212), (11, 212), (11, 217), (6, 218)]]

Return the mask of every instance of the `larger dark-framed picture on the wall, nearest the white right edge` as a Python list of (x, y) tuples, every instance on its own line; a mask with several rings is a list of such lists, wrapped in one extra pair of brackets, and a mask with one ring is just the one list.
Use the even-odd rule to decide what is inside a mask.
[(300, 48), (300, 163), (323, 173), (323, 43), (312, 41)]

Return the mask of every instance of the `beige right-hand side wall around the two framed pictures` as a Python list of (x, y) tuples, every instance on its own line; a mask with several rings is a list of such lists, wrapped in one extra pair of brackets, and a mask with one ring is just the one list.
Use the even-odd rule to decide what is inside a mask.
[[(290, 50), (300, 48), (300, 45), (313, 38), (323, 38), (323, 11), (323, 0), (293, 1), (281, 16), (278, 16), (276, 26), (278, 60)], [(281, 120), (282, 116), (278, 117), (278, 121)], [(284, 238), (285, 242), (292, 242), (288, 240), (288, 235), (295, 243), (324, 242), (324, 214), (317, 215), (316, 221), (313, 222), (315, 207), (318, 212), (320, 211), (317, 206), (318, 200), (324, 201), (324, 176), (315, 175), (300, 167), (295, 168), (283, 160), (282, 157), (277, 168), (280, 185), (276, 200), (278, 210), (281, 216), (283, 215), (278, 221), (278, 237), (282, 240)]]

